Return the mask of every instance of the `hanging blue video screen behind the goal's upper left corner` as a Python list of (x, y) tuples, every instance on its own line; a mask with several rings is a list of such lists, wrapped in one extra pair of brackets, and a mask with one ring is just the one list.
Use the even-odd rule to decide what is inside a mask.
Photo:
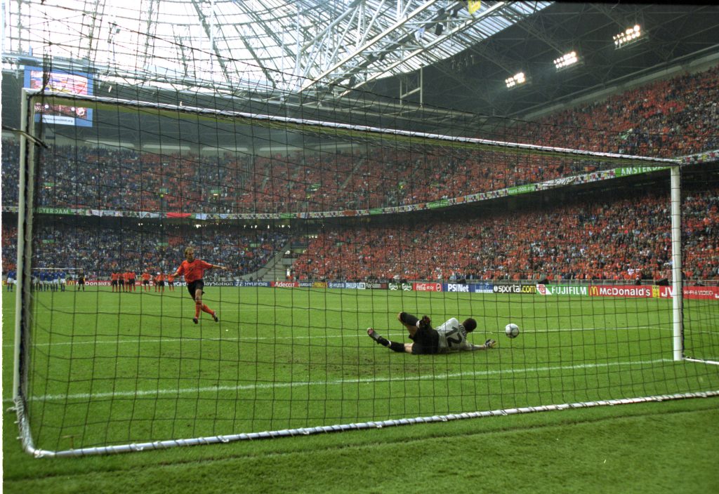
[[(43, 72), (40, 67), (25, 67), (24, 87), (42, 89)], [(69, 73), (63, 70), (53, 70), (47, 74), (45, 90), (57, 93), (92, 94), (92, 78), (85, 73)], [(79, 127), (92, 126), (92, 109), (77, 106), (50, 105), (36, 103), (36, 121), (45, 124), (71, 125)]]

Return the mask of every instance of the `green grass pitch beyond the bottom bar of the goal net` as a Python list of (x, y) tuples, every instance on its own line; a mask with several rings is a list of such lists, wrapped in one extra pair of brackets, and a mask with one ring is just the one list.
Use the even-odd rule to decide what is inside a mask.
[[(4, 314), (14, 312), (4, 294)], [(29, 386), (36, 447), (188, 439), (719, 388), (672, 361), (671, 301), (517, 294), (206, 288), (221, 322), (174, 292), (36, 292)], [(716, 302), (686, 301), (685, 340), (716, 359)], [(400, 310), (475, 317), (493, 350), (403, 355)], [(7, 319), (6, 319), (7, 321)], [(503, 327), (515, 322), (510, 340)], [(12, 325), (4, 325), (5, 398)]]

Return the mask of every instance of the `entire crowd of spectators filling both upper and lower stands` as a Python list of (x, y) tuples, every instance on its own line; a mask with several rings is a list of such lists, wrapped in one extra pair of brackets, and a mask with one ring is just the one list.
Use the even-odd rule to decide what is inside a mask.
[[(488, 139), (618, 154), (677, 157), (719, 149), (719, 66), (659, 80)], [(19, 151), (2, 142), (3, 205), (17, 205)], [(421, 144), (367, 145), (273, 156), (157, 154), (51, 145), (41, 153), (37, 203), (52, 208), (150, 213), (298, 213), (460, 197), (615, 167), (612, 162)], [(683, 202), (685, 274), (719, 279), (718, 196)], [(62, 218), (62, 217), (60, 217)], [(139, 225), (138, 225), (139, 226)], [(538, 232), (543, 232), (539, 234)], [(3, 269), (14, 269), (17, 229), (2, 231)], [(254, 273), (290, 238), (237, 225), (40, 223), (33, 266), (169, 271), (192, 243), (198, 257)], [(667, 201), (649, 196), (553, 210), (454, 218), (421, 228), (319, 233), (293, 266), (297, 279), (661, 279), (670, 277)]]

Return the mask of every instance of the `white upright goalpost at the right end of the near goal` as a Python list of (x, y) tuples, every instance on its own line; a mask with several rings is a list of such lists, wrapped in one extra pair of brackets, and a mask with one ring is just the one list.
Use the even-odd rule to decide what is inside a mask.
[(684, 328), (682, 321), (682, 182), (681, 169), (672, 167), (672, 347), (674, 360), (684, 360)]

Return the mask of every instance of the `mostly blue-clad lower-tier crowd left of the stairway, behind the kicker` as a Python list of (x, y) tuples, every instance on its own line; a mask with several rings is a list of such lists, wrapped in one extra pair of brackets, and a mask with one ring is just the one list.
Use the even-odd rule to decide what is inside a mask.
[[(282, 252), (290, 235), (284, 229), (193, 225), (149, 225), (142, 229), (110, 225), (42, 222), (33, 235), (34, 269), (69, 268), (106, 278), (114, 271), (137, 273), (174, 271), (185, 258), (183, 251), (194, 246), (196, 257), (212, 264), (229, 266), (226, 276), (255, 273), (276, 253)], [(3, 223), (3, 270), (16, 269), (17, 229)], [(209, 278), (224, 271), (209, 271)]]

